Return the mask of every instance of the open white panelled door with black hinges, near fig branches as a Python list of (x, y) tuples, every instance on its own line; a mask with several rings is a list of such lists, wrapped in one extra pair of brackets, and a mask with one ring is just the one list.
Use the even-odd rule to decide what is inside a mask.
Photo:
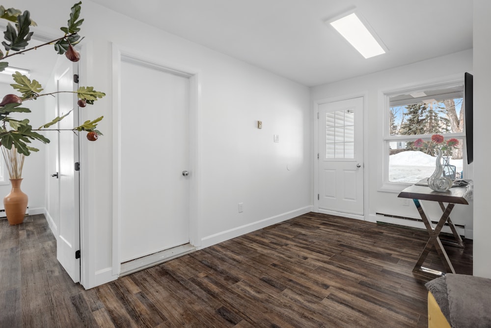
[[(55, 72), (57, 91), (75, 90), (74, 66), (70, 61)], [(78, 107), (74, 93), (57, 93), (58, 116), (73, 111), (58, 123), (59, 129), (72, 129), (78, 125)], [(80, 281), (79, 172), (74, 164), (79, 161), (79, 140), (75, 133), (62, 131), (58, 137), (59, 226), (56, 238), (56, 257), (74, 282)]]

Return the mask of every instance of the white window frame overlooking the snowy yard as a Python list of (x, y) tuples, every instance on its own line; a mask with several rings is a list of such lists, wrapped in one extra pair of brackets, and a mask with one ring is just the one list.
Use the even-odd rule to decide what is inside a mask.
[[(464, 76), (464, 74), (462, 74)], [(424, 91), (427, 89), (437, 89), (455, 86), (456, 84), (464, 85), (464, 79), (448, 79), (446, 81), (428, 84), (413, 85), (406, 88), (398, 88), (391, 90), (384, 90), (381, 92), (382, 95), (382, 179), (379, 179), (379, 191), (386, 192), (400, 192), (404, 188), (408, 187), (413, 183), (409, 182), (392, 182), (389, 181), (389, 143), (398, 141), (415, 141), (416, 139), (431, 140), (433, 134), (422, 134), (422, 135), (405, 135), (405, 136), (393, 136), (389, 134), (389, 122), (390, 122), (390, 97), (398, 94), (412, 93), (418, 91)], [(464, 119), (465, 120), (465, 119)], [(465, 125), (465, 124), (464, 124)], [(464, 172), (469, 172), (469, 165), (467, 165), (467, 151), (465, 149), (465, 131), (455, 132), (455, 133), (440, 133), (445, 139), (456, 138), (463, 140), (463, 170)], [(466, 177), (469, 178), (469, 177)], [(472, 178), (472, 177), (470, 177)]]

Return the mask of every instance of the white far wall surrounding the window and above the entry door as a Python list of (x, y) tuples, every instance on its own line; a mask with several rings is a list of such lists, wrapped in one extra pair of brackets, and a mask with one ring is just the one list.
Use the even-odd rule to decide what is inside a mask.
[[(435, 83), (446, 78), (455, 79), (456, 76), (464, 78), (464, 72), (472, 70), (472, 50), (467, 50), (431, 60), (360, 76), (353, 79), (339, 81), (311, 89), (313, 102), (326, 98), (349, 97), (353, 94), (367, 95), (365, 100), (368, 111), (368, 131), (365, 131), (365, 148), (369, 149), (365, 157), (365, 175), (368, 175), (368, 209), (365, 209), (365, 219), (369, 221), (384, 221), (395, 224), (408, 225), (412, 221), (376, 216), (375, 213), (420, 218), (416, 208), (403, 205), (403, 199), (397, 198), (404, 188), (392, 192), (380, 191), (382, 179), (382, 95), (383, 92), (398, 88), (411, 87), (421, 83)], [(367, 147), (368, 146), (368, 147)], [(426, 202), (429, 203), (429, 202)], [(435, 204), (425, 204), (430, 213), (439, 218), (441, 210)], [(472, 238), (472, 206), (456, 206), (452, 212), (452, 221), (465, 224), (467, 238)], [(416, 223), (424, 228), (422, 223)]]

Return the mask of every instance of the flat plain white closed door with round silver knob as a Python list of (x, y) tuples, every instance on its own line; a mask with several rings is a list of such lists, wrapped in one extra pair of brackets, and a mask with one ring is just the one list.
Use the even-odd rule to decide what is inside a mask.
[(189, 243), (190, 80), (121, 62), (120, 260)]

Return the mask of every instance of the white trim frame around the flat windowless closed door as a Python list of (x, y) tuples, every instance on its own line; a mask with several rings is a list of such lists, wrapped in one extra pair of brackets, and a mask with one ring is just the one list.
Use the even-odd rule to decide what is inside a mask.
[(200, 111), (200, 75), (196, 70), (177, 67), (176, 65), (147, 60), (139, 55), (135, 55), (131, 50), (122, 49), (120, 46), (113, 43), (112, 45), (112, 275), (116, 276), (121, 271), (120, 259), (120, 212), (121, 212), (121, 61), (127, 61), (143, 65), (145, 67), (162, 70), (168, 73), (187, 77), (190, 80), (190, 108), (189, 108), (189, 167), (193, 175), (190, 179), (190, 244), (194, 247), (201, 245), (199, 219), (200, 216), (200, 192), (198, 187), (201, 179), (200, 158), (201, 158), (201, 143), (199, 136), (201, 129), (199, 122)]

